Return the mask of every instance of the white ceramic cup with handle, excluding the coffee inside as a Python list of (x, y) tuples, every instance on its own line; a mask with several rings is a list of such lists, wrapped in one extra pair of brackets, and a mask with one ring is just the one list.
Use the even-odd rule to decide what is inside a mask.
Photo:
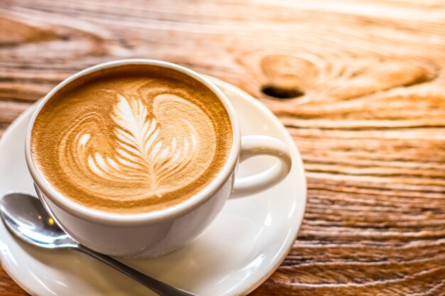
[[(110, 67), (122, 65), (156, 65), (183, 72), (211, 89), (223, 102), (232, 123), (232, 148), (227, 163), (208, 187), (166, 209), (140, 214), (113, 214), (90, 209), (64, 197), (51, 187), (37, 170), (31, 155), (31, 130), (36, 116), (48, 99), (66, 84), (80, 77)], [(223, 92), (198, 73), (159, 60), (117, 60), (104, 62), (77, 72), (54, 87), (38, 103), (26, 132), (26, 163), (33, 177), (39, 199), (53, 219), (70, 236), (100, 253), (109, 256), (146, 258), (161, 256), (178, 248), (200, 234), (223, 208), (228, 198), (243, 197), (271, 187), (286, 177), (291, 168), (291, 157), (286, 145), (269, 136), (244, 136), (235, 110)], [(249, 177), (235, 177), (237, 164), (255, 155), (278, 158), (272, 168)], [(254, 198), (252, 198), (254, 202)]]

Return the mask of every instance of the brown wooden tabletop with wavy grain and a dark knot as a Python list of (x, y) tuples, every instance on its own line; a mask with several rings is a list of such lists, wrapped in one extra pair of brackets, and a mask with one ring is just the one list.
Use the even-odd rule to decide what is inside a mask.
[[(445, 295), (444, 2), (216, 2), (0, 0), (0, 135), (99, 62), (214, 75), (279, 116), (308, 177), (299, 239), (252, 295)], [(0, 295), (26, 293), (1, 270)]]

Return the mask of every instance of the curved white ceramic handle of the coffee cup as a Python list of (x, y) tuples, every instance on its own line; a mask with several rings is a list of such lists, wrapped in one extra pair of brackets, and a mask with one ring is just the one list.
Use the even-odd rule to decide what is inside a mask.
[(286, 145), (269, 136), (243, 136), (241, 138), (240, 163), (257, 155), (272, 155), (280, 161), (255, 175), (235, 178), (230, 199), (245, 197), (277, 184), (291, 170), (291, 155)]

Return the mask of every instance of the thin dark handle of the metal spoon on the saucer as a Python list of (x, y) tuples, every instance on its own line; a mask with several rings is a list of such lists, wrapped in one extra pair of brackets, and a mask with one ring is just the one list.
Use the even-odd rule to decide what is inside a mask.
[(144, 273), (140, 273), (139, 271), (134, 270), (133, 268), (130, 268), (129, 266), (124, 265), (123, 263), (120, 263), (119, 261), (114, 260), (109, 256), (105, 256), (102, 255), (101, 253), (97, 253), (96, 251), (92, 251), (89, 248), (86, 248), (85, 246), (80, 245), (79, 248), (77, 248), (77, 250), (87, 253), (99, 259), (103, 263), (106, 263), (107, 265), (116, 268), (122, 273), (128, 275), (133, 280), (136, 280), (142, 285), (148, 287), (150, 290), (156, 292), (160, 296), (198, 296), (191, 292), (187, 292), (178, 289), (176, 287), (173, 287), (171, 285), (167, 285), (166, 283), (162, 283), (161, 281), (151, 278), (148, 275), (144, 275)]

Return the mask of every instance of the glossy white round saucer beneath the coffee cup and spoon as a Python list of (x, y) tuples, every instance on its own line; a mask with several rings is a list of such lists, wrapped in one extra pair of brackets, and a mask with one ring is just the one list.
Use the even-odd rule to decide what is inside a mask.
[[(274, 272), (293, 245), (306, 204), (306, 179), (294, 141), (272, 112), (240, 89), (213, 82), (235, 106), (243, 135), (269, 135), (287, 143), (291, 172), (267, 191), (227, 201), (213, 224), (180, 251), (124, 263), (198, 295), (246, 295)], [(0, 196), (15, 190), (35, 194), (23, 152), (32, 111), (33, 107), (19, 116), (1, 138)], [(271, 161), (265, 156), (248, 160), (240, 165), (240, 175), (262, 170)], [(0, 260), (31, 295), (155, 295), (82, 253), (28, 246), (12, 237), (2, 223)]]

